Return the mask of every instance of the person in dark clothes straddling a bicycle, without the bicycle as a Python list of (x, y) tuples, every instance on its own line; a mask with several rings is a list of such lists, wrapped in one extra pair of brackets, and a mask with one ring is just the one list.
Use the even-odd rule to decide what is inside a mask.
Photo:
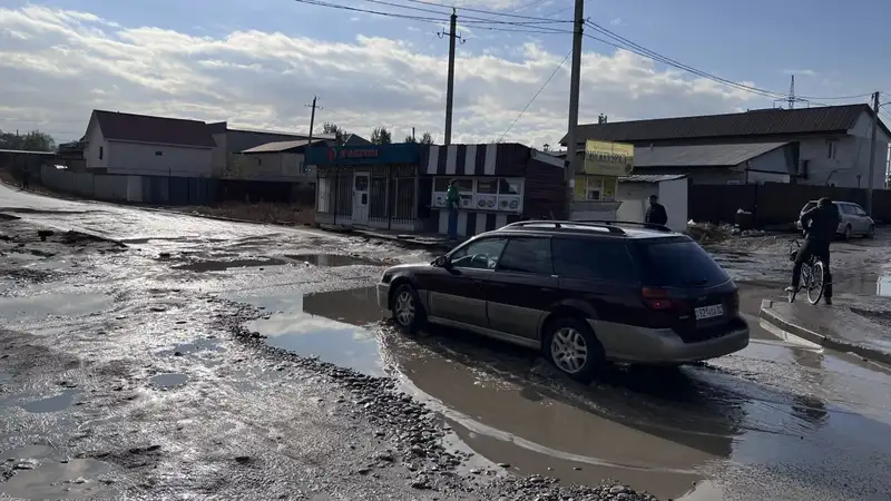
[(823, 298), (826, 304), (832, 304), (832, 274), (829, 271), (829, 246), (839, 230), (839, 208), (826, 197), (817, 202), (816, 207), (801, 215), (801, 227), (807, 232), (804, 245), (795, 256), (795, 266), (792, 268), (792, 285), (786, 287), (787, 293), (799, 289), (801, 281), (801, 266), (811, 256), (816, 256), (823, 262)]

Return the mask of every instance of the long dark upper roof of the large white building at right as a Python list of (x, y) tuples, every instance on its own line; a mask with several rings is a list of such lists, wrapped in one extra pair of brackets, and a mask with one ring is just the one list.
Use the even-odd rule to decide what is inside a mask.
[[(578, 137), (579, 143), (585, 143), (586, 139), (646, 143), (694, 138), (846, 132), (854, 127), (863, 112), (874, 116), (872, 109), (863, 104), (586, 124), (579, 125)], [(891, 131), (881, 120), (879, 120), (879, 126), (891, 136)], [(566, 145), (566, 141), (567, 137), (564, 136), (560, 144)]]

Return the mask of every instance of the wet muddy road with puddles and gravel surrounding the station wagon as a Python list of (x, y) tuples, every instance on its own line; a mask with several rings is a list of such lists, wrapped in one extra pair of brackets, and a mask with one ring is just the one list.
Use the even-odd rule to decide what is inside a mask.
[[(758, 326), (761, 299), (789, 273), (782, 242), (717, 255), (741, 279), (750, 347), (677, 372), (617, 367), (581, 386), (521, 348), (394, 332), (370, 286), (388, 262), (429, 258), (420, 253), (17, 193), (0, 191), (0, 206), (22, 225), (128, 246), (29, 243), (0, 257), (0, 493), (400, 499), (395, 488), (421, 474), (438, 491), (405, 499), (536, 499), (498, 491), (505, 470), (567, 484), (610, 478), (659, 499), (891, 492), (891, 373)], [(841, 301), (882, 292), (885, 244), (838, 246)], [(221, 332), (236, 324), (253, 342)], [(286, 353), (317, 358), (292, 364)], [(365, 416), (374, 400), (332, 382), (322, 362), (395, 379), (446, 421), (447, 450), (473, 453), (458, 469), (470, 480), (437, 483), (420, 460), (382, 468), (398, 442), (392, 418)]]

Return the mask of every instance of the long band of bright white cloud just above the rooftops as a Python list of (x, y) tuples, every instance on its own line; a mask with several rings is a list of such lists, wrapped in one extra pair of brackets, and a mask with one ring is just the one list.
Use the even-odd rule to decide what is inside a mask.
[[(0, 9), (0, 128), (39, 127), (68, 139), (92, 108), (105, 108), (304, 130), (304, 105), (317, 95), (316, 122), (364, 136), (383, 125), (395, 139), (415, 127), (442, 138), (447, 61), (424, 55), (423, 40), (332, 42), (257, 30), (197, 37), (36, 6)], [(498, 138), (562, 60), (565, 52), (529, 40), (461, 47), (453, 140)], [(506, 139), (556, 144), (568, 89), (567, 61)], [(582, 121), (600, 112), (615, 121), (732, 111), (752, 98), (627, 51), (582, 57)]]

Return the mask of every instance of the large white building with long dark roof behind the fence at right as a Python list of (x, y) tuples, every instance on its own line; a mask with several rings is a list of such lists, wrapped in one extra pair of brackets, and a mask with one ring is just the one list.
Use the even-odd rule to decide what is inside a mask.
[[(869, 186), (870, 134), (875, 115), (868, 105), (579, 126), (585, 140), (635, 145), (635, 174), (685, 174), (694, 184), (761, 181)], [(884, 188), (891, 130), (879, 120), (873, 187)], [(566, 137), (561, 140), (566, 145)]]

